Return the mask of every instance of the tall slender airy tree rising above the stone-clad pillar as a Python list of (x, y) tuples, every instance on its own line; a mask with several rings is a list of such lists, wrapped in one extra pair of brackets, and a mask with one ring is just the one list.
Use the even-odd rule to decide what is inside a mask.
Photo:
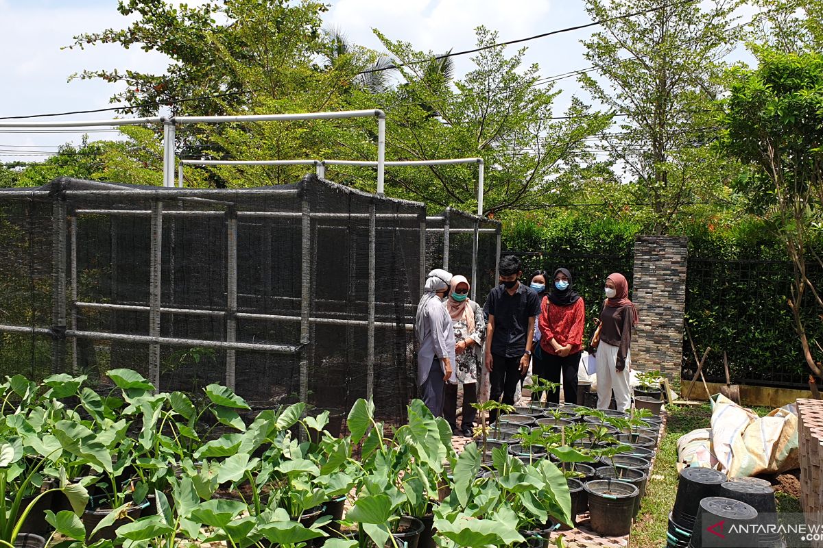
[[(621, 121), (601, 139), (616, 168), (613, 182), (636, 184), (654, 233), (664, 233), (686, 204), (712, 200), (737, 169), (704, 146), (714, 138), (713, 101), (723, 58), (741, 30), (729, 28), (738, 0), (700, 2), (587, 0), (603, 30), (584, 41), (603, 83), (584, 88)], [(653, 10), (639, 16), (627, 12)], [(621, 17), (623, 16), (623, 17)]]

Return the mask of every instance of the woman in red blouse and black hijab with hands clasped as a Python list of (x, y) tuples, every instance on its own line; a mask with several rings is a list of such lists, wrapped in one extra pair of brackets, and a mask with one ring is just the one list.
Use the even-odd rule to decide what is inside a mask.
[[(565, 403), (580, 403), (577, 401), (577, 370), (580, 352), (583, 351), (585, 316), (583, 298), (574, 292), (570, 272), (556, 269), (551, 292), (543, 297), (540, 305), (537, 325), (543, 355), (534, 372), (546, 380), (559, 383), (562, 371)], [(547, 393), (546, 400), (560, 403), (559, 391)]]

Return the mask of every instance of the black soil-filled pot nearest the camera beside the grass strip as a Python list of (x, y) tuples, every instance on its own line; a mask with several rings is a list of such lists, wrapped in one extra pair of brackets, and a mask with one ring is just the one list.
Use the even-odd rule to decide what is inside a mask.
[(635, 516), (636, 486), (626, 481), (587, 481), (589, 526), (607, 536), (627, 535)]

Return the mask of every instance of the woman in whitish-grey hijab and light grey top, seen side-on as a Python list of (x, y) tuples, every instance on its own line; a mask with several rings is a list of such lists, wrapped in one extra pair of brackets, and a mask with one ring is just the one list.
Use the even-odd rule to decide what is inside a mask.
[(452, 274), (434, 269), (425, 279), (417, 304), (414, 333), (417, 351), (417, 386), (425, 406), (435, 417), (443, 416), (445, 383), (453, 380), (454, 329), (443, 299), (449, 292)]

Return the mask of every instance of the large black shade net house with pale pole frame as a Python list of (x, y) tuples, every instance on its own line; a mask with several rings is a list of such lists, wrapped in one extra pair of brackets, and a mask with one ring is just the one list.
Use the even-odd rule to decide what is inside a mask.
[(478, 290), (495, 283), (500, 224), (443, 218), (460, 219), (450, 242), (423, 204), (314, 175), (238, 190), (67, 177), (0, 189), (0, 374), (99, 385), (126, 367), (163, 391), (228, 385), (255, 409), (303, 401), (343, 417), (371, 397), (382, 420), (405, 421), (438, 230), (437, 260), (445, 249), (455, 272), (477, 266)]

